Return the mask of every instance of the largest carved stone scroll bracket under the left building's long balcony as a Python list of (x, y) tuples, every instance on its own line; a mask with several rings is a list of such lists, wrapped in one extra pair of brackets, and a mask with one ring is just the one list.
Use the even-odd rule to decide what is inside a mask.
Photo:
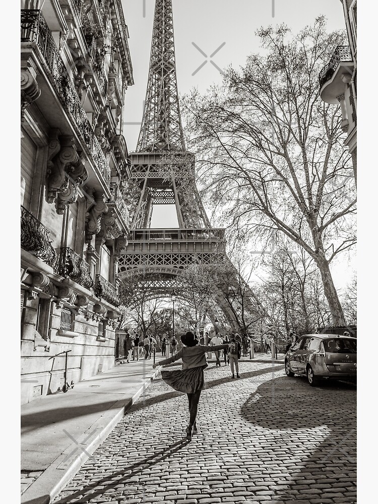
[[(58, 149), (58, 144), (60, 149)], [(48, 203), (56, 204), (56, 213), (62, 214), (67, 205), (75, 203), (78, 187), (88, 178), (88, 172), (76, 151), (73, 137), (50, 139), (48, 161)]]

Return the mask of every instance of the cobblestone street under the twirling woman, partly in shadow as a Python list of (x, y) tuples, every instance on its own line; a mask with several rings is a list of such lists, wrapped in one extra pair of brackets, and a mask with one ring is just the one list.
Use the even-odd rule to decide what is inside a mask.
[(186, 395), (159, 374), (55, 504), (355, 503), (356, 387), (311, 388), (270, 362), (240, 368), (239, 380), (205, 370), (190, 443)]

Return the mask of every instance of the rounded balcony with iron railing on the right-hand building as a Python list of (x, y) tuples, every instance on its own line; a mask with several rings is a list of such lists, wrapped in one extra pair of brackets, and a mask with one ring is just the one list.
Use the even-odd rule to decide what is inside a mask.
[(344, 93), (343, 74), (353, 73), (353, 58), (349, 45), (336, 47), (330, 61), (319, 74), (320, 95), (326, 103), (337, 103), (337, 96)]

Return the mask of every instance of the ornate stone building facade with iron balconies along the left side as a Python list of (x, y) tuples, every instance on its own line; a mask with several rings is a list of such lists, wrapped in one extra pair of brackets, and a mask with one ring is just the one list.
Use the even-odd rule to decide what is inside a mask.
[(21, 7), (27, 403), (114, 365), (117, 260), (130, 226), (122, 117), (134, 81), (121, 0), (25, 0)]

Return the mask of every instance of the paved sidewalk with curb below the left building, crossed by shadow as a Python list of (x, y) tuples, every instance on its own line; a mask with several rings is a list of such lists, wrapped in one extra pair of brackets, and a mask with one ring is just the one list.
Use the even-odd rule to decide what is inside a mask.
[(21, 406), (21, 504), (53, 500), (157, 376), (152, 365), (119, 364)]

